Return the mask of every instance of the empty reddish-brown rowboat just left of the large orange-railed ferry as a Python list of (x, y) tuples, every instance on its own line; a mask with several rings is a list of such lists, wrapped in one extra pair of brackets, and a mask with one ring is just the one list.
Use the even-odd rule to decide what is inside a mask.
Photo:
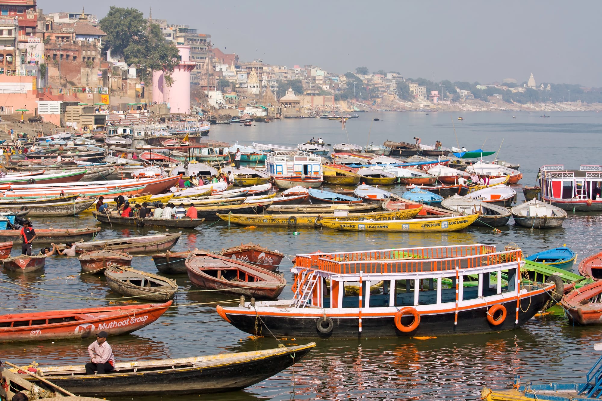
[(276, 299), (287, 284), (284, 276), (269, 270), (198, 249), (190, 252), (185, 263), (192, 284), (204, 290)]

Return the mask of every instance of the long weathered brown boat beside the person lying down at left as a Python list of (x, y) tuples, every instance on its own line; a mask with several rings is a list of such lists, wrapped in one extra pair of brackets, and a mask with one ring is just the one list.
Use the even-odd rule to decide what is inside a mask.
[[(75, 252), (92, 252), (94, 250), (117, 250), (130, 255), (146, 255), (172, 249), (181, 237), (181, 232), (166, 232), (165, 234), (146, 235), (145, 237), (116, 238), (114, 240), (78, 242)], [(64, 244), (58, 244), (63, 250)]]

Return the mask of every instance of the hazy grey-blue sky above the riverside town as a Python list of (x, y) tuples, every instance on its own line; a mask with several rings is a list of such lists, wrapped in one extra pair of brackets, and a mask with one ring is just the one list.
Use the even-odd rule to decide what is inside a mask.
[[(602, 87), (602, 1), (85, 1), (104, 16), (134, 7), (211, 34), (241, 61), (314, 64), (329, 72), (394, 70), (407, 78), (504, 78)], [(144, 3), (144, 6), (141, 6)], [(81, 0), (38, 0), (45, 13)]]

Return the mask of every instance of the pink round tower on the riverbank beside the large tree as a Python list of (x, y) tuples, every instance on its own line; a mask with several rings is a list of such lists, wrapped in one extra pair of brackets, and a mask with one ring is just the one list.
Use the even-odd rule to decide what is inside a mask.
[(190, 46), (177, 45), (181, 61), (173, 69), (173, 84), (168, 87), (164, 71), (152, 74), (152, 100), (157, 103), (167, 102), (171, 113), (190, 113), (190, 72), (196, 67), (190, 61)]

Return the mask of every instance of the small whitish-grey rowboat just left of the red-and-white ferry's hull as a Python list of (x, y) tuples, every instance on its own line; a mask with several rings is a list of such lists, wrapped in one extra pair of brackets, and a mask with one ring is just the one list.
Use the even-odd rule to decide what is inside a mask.
[(510, 209), (514, 222), (528, 228), (556, 228), (562, 226), (566, 211), (545, 202), (531, 199)]

